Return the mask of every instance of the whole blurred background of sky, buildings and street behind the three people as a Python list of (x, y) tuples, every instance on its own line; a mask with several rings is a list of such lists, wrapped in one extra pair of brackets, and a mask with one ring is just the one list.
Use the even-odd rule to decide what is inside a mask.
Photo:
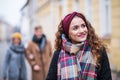
[(0, 80), (12, 33), (21, 32), (27, 45), (34, 27), (41, 25), (54, 50), (58, 24), (73, 11), (83, 13), (108, 45), (113, 80), (120, 80), (120, 0), (0, 0)]

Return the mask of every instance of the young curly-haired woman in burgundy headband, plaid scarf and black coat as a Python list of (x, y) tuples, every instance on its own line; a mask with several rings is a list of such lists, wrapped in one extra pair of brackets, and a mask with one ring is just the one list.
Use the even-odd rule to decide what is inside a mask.
[(106, 49), (83, 14), (65, 16), (55, 43), (46, 80), (112, 80)]

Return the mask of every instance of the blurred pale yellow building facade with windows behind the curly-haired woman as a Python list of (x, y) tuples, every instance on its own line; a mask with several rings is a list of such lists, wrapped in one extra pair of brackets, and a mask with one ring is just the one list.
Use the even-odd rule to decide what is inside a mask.
[(36, 25), (42, 25), (54, 45), (60, 20), (72, 11), (87, 17), (96, 33), (110, 48), (111, 67), (120, 70), (120, 1), (119, 0), (28, 0), (27, 13), (30, 34)]

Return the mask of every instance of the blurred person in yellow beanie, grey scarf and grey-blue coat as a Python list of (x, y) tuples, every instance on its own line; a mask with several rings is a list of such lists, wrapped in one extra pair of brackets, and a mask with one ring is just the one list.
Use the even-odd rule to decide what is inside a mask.
[[(3, 66), (3, 80), (27, 80), (25, 66), (25, 48), (20, 33), (12, 35), (12, 43), (7, 50)], [(8, 75), (7, 75), (8, 74)]]

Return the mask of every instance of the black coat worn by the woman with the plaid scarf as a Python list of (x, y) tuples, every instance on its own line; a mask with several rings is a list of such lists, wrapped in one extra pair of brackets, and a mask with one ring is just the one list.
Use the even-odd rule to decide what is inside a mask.
[[(97, 80), (112, 80), (111, 69), (110, 69), (110, 65), (109, 65), (109, 61), (108, 61), (105, 48), (101, 50), (101, 53), (102, 53), (101, 60), (100, 60), (101, 67), (99, 69), (96, 68)], [(59, 51), (55, 51), (51, 64), (50, 64), (50, 68), (49, 68), (49, 72), (48, 72), (46, 80), (57, 80), (58, 57), (59, 57)]]

